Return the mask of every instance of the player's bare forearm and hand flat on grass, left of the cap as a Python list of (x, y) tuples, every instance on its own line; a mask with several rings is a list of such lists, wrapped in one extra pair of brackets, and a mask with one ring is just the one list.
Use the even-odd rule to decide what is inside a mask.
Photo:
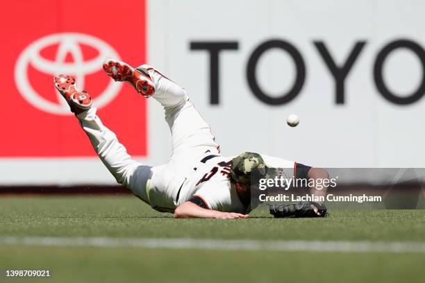
[(208, 209), (206, 203), (198, 196), (193, 196), (185, 203), (178, 205), (174, 210), (174, 218), (217, 218), (217, 219), (234, 219), (248, 218), (248, 214), (240, 214), (235, 212), (219, 212), (217, 210)]

